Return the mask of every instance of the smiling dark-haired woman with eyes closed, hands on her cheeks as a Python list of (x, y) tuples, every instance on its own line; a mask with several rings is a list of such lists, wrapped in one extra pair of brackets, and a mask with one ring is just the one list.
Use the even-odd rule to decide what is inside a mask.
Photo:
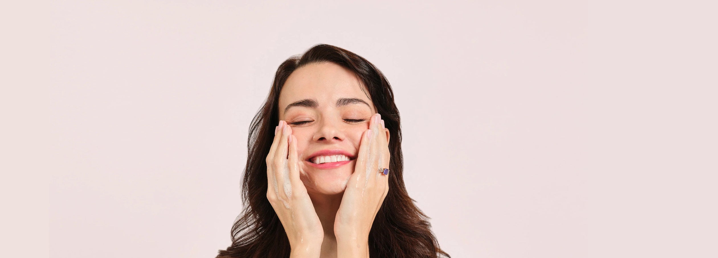
[(290, 57), (249, 130), (243, 215), (223, 257), (448, 256), (404, 187), (391, 86), (318, 44)]

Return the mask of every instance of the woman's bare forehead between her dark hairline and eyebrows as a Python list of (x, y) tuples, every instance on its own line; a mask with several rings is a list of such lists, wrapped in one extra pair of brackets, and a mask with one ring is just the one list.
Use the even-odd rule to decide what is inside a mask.
[(350, 70), (327, 62), (305, 65), (292, 72), (279, 92), (279, 110), (297, 100), (314, 99), (320, 108), (335, 105), (340, 97), (355, 97), (365, 100), (374, 110), (373, 103), (363, 92), (360, 80)]

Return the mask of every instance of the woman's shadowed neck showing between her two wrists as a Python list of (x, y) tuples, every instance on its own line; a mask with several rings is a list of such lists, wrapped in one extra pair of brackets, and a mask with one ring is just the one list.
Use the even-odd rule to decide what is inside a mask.
[(324, 241), (322, 242), (322, 253), (320, 257), (337, 257), (337, 237), (334, 234), (334, 219), (337, 216), (342, 196), (344, 193), (335, 195), (309, 194), (314, 204), (314, 211), (322, 222), (324, 229)]

